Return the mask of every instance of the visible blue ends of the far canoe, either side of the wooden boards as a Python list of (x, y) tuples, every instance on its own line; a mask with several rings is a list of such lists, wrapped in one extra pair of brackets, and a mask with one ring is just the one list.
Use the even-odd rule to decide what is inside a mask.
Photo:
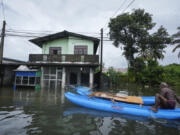
[[(89, 88), (89, 87), (77, 86), (77, 87), (75, 87), (75, 90), (80, 95), (86, 95), (87, 96), (87, 95), (92, 93), (91, 88)], [(154, 96), (149, 96), (149, 97), (142, 96), (141, 98), (142, 98), (142, 102), (144, 105), (155, 104), (155, 97)]]

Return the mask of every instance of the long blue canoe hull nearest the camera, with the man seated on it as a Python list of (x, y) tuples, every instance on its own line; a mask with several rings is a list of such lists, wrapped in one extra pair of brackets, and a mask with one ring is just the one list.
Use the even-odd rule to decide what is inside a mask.
[(88, 98), (88, 96), (82, 96), (71, 92), (66, 92), (65, 96), (72, 103), (86, 108), (148, 118), (180, 119), (180, 108), (159, 109), (157, 113), (154, 113), (150, 110), (150, 106), (140, 106), (137, 104), (128, 104), (123, 102), (114, 104), (110, 100), (95, 97)]

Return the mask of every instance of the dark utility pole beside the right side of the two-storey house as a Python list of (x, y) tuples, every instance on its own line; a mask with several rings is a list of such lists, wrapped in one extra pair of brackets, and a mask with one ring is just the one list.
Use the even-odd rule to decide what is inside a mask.
[(101, 59), (100, 59), (100, 88), (103, 88), (103, 76), (102, 67), (103, 66), (103, 28), (101, 29)]

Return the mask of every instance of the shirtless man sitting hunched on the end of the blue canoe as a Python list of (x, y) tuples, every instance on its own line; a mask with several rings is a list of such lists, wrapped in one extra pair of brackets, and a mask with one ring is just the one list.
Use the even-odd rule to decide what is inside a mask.
[(174, 109), (176, 107), (176, 100), (180, 103), (180, 98), (176, 96), (175, 92), (168, 88), (165, 82), (160, 84), (161, 92), (157, 93), (155, 97), (155, 105), (151, 108), (154, 112), (158, 111), (158, 107), (162, 109)]

